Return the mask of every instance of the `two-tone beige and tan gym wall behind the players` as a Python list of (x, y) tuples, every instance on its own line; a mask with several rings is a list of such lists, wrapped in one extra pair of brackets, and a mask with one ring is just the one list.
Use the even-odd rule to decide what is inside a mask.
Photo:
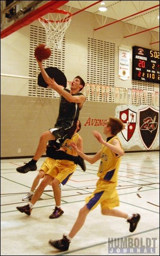
[[(159, 85), (131, 79), (132, 46), (159, 51), (159, 45), (149, 45), (150, 32), (123, 38), (127, 33), (124, 23), (94, 32), (95, 27), (93, 14), (85, 12), (74, 16), (66, 30), (62, 52), (52, 49), (53, 54), (44, 61), (44, 67), (60, 68), (67, 77), (68, 87), (76, 75), (80, 75), (87, 84), (96, 84), (95, 91), (92, 86), (89, 86), (89, 93), (85, 88), (87, 100), (80, 112), (80, 135), (85, 153), (95, 153), (100, 149), (101, 145), (92, 131), (103, 133), (103, 120), (109, 116), (118, 117), (120, 106), (124, 110), (137, 110), (132, 138), (126, 141), (119, 134), (124, 150), (147, 151), (140, 138), (138, 115), (139, 110), (147, 106), (151, 106), (155, 112), (159, 111), (159, 98), (152, 99), (155, 92), (159, 97)], [(1, 158), (33, 156), (41, 133), (53, 127), (56, 122), (59, 96), (53, 90), (39, 88), (36, 84), (39, 69), (34, 49), (41, 42), (45, 42), (45, 32), (38, 21), (1, 40)], [(119, 47), (130, 51), (130, 78), (126, 81), (118, 78)], [(108, 66), (103, 70), (105, 58)], [(102, 88), (98, 95), (99, 85), (109, 88), (108, 95), (106, 91), (105, 96), (102, 95)], [(122, 98), (120, 90), (119, 95), (116, 95), (116, 88), (123, 90)], [(129, 94), (124, 97), (125, 92), (132, 89), (146, 91), (147, 99), (144, 96), (141, 99), (140, 95), (129, 99)], [(159, 123), (156, 140), (149, 150), (159, 150)]]

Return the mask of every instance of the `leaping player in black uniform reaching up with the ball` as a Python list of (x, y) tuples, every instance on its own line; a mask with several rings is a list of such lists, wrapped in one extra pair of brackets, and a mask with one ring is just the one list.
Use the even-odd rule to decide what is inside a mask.
[[(36, 58), (37, 59), (37, 58)], [(64, 89), (61, 84), (57, 84), (54, 78), (49, 77), (47, 72), (45, 72), (42, 61), (37, 59), (42, 77), (44, 81), (48, 84), (48, 87), (54, 89), (60, 95), (60, 106), (59, 114), (56, 124), (49, 131), (44, 132), (40, 136), (39, 144), (33, 159), (16, 170), (19, 173), (28, 173), (30, 170), (36, 170), (36, 162), (45, 152), (48, 141), (52, 141), (52, 150), (55, 150), (56, 156), (54, 159), (68, 159), (67, 154), (63, 156), (57, 156), (57, 150), (60, 148), (61, 144), (65, 139), (71, 139), (72, 135), (76, 130), (77, 120), (79, 118), (79, 112), (86, 100), (86, 97), (80, 92), (84, 86), (85, 82), (80, 76), (76, 76), (71, 83), (71, 90)], [(74, 161), (74, 160), (73, 160)], [(75, 161), (74, 161), (75, 162)], [(81, 157), (77, 157), (76, 164), (79, 164), (83, 170), (85, 170), (85, 163)]]

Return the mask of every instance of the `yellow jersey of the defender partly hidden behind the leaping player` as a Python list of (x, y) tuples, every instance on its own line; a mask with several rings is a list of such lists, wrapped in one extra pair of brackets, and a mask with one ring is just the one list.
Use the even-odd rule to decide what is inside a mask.
[[(66, 140), (63, 142), (63, 144), (62, 144), (61, 147), (64, 148), (64, 150), (65, 150), (65, 152), (66, 152), (67, 154), (70, 154), (70, 155), (73, 155), (73, 156), (78, 156), (77, 152), (75, 152), (75, 151), (73, 150), (73, 147), (70, 146), (69, 144), (70, 144), (71, 142), (77, 143), (77, 139), (78, 139), (79, 137), (80, 137), (80, 135), (79, 135), (78, 133), (76, 133), (76, 134), (74, 134), (74, 135), (72, 136), (71, 139), (66, 139)], [(75, 164), (74, 162), (69, 161), (69, 160), (57, 160), (57, 161), (58, 161), (58, 162), (60, 161), (60, 163), (65, 164), (65, 165)]]

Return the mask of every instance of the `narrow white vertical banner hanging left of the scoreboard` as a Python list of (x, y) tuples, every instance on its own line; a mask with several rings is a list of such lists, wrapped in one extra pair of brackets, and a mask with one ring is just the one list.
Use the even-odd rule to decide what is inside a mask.
[(130, 73), (130, 50), (119, 47), (119, 73), (118, 77), (122, 80), (129, 79)]

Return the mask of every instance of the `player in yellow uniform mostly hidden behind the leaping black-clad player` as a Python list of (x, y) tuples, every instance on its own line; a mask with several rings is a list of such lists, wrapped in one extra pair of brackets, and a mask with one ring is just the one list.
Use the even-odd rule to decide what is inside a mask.
[[(77, 121), (77, 127), (75, 130), (74, 135), (71, 139), (66, 139), (61, 147), (61, 150), (65, 151), (65, 153), (77, 156), (77, 152), (74, 151), (73, 147), (70, 145), (71, 142), (74, 142), (77, 144), (80, 151), (83, 151), (83, 140), (81, 136), (77, 133), (81, 129), (81, 123), (78, 120)], [(49, 147), (49, 152), (47, 149), (47, 155), (52, 156), (52, 148)], [(60, 203), (61, 203), (61, 191), (59, 189), (59, 185), (66, 184), (66, 182), (72, 177), (73, 173), (75, 172), (77, 168), (77, 164), (75, 164), (73, 161), (69, 160), (55, 160), (50, 157), (48, 157), (42, 164), (40, 171), (45, 173), (44, 179), (41, 181), (40, 185), (36, 189), (33, 197), (31, 198), (31, 201), (25, 205), (25, 206), (17, 206), (16, 208), (20, 212), (25, 212), (27, 215), (31, 215), (31, 211), (33, 208), (33, 205), (37, 202), (37, 200), (42, 195), (44, 188), (52, 183), (53, 192), (54, 192), (54, 198), (56, 202), (55, 209), (53, 213), (50, 215), (50, 219), (56, 219), (59, 218), (63, 214), (63, 210), (61, 209)]]

